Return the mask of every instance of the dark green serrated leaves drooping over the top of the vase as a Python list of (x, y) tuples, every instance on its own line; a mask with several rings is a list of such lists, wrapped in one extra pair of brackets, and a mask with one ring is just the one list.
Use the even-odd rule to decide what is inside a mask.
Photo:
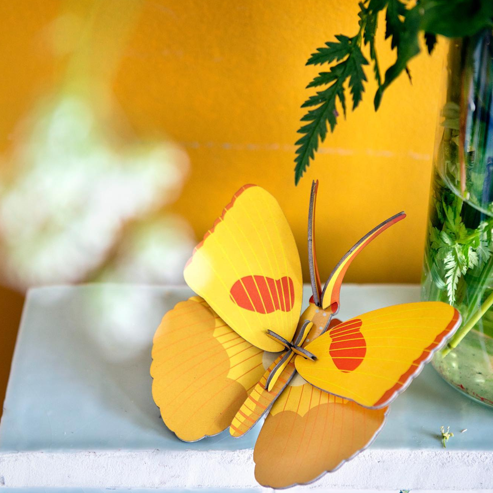
[[(436, 45), (436, 36), (470, 36), (482, 29), (493, 27), (493, 0), (364, 0), (358, 3), (358, 32), (354, 36), (336, 35), (309, 58), (307, 65), (331, 65), (329, 71), (320, 72), (307, 88), (328, 86), (317, 91), (302, 107), (311, 109), (302, 117), (305, 123), (296, 142), (295, 183), (297, 184), (320, 142), (325, 140), (327, 125), (333, 132), (337, 125), (340, 105), (346, 116), (346, 91), (352, 98), (352, 109), (360, 103), (364, 83), (364, 67), (368, 60), (363, 54), (368, 49), (373, 75), (377, 82), (374, 98), (375, 110), (382, 102), (387, 87), (405, 71), (410, 77), (409, 61), (420, 53), (420, 35), (424, 36), (428, 53)], [(379, 66), (375, 38), (378, 34), (379, 14), (385, 11), (385, 39), (396, 51), (393, 65), (385, 75)], [(457, 275), (449, 276), (452, 283)]]

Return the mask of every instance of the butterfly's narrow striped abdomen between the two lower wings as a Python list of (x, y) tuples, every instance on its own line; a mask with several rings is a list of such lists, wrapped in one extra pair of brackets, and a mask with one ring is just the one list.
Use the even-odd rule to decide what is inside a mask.
[(269, 392), (265, 388), (267, 378), (274, 367), (282, 359), (282, 356), (283, 354), (278, 356), (272, 362), (257, 385), (253, 387), (236, 416), (233, 418), (229, 432), (235, 438), (244, 435), (254, 424), (258, 422), (258, 420), (260, 420), (260, 418), (269, 410), (269, 407), (274, 399), (282, 392), (284, 387), (286, 387), (289, 380), (294, 375), (294, 362), (291, 361), (282, 371), (272, 390)]

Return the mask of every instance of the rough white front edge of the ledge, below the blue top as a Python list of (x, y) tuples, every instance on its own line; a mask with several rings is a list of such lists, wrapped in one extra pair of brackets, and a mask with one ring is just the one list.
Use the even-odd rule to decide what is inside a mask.
[[(4, 454), (6, 487), (258, 488), (251, 450)], [(493, 456), (450, 450), (366, 450), (336, 472), (293, 490), (490, 490)]]

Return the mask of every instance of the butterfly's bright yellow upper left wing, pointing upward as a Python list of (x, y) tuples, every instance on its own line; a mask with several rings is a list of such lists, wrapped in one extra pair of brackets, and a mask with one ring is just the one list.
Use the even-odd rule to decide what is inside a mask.
[(292, 339), (303, 296), (300, 258), (279, 204), (264, 189), (245, 185), (236, 192), (194, 249), (184, 277), (257, 348), (282, 351), (267, 329)]

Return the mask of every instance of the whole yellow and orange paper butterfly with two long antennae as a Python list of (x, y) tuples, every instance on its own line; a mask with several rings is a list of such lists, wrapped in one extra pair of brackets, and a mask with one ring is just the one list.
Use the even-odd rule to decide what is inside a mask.
[(440, 302), (335, 319), (350, 263), (405, 214), (357, 242), (322, 288), (317, 186), (308, 219), (313, 297), (301, 317), (300, 258), (287, 220), (272, 195), (245, 185), (185, 267), (198, 296), (164, 316), (152, 349), (154, 401), (181, 440), (227, 428), (241, 437), (266, 415), (253, 459), (255, 478), (272, 488), (314, 481), (371, 444), (390, 402), (460, 323)]

